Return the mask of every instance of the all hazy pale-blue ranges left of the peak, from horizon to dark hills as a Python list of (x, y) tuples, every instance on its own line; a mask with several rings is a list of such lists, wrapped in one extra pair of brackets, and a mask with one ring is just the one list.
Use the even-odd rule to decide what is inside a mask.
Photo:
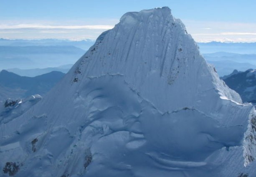
[[(55, 68), (60, 65), (74, 64), (93, 44), (93, 40), (0, 39), (0, 70)], [(67, 72), (59, 68), (56, 71)]]

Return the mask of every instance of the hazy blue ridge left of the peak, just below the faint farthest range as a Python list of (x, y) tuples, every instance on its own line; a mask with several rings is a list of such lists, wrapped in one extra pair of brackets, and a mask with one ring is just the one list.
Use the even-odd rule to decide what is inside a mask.
[(74, 46), (0, 46), (0, 69), (74, 64), (84, 53), (84, 50)]

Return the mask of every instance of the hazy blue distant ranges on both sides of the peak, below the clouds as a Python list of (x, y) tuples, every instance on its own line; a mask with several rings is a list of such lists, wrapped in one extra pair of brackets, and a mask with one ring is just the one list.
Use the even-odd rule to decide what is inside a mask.
[[(0, 70), (20, 76), (38, 76), (51, 71), (66, 73), (93, 40), (8, 40), (0, 39)], [(215, 66), (219, 76), (234, 69), (256, 68), (256, 43), (198, 43), (200, 52)], [(60, 65), (68, 65), (63, 68)]]

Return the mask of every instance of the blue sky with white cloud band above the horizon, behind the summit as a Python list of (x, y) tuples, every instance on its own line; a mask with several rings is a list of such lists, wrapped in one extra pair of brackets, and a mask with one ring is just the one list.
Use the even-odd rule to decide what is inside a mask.
[(95, 40), (124, 13), (163, 6), (197, 42), (256, 42), (256, 0), (0, 0), (0, 38)]

